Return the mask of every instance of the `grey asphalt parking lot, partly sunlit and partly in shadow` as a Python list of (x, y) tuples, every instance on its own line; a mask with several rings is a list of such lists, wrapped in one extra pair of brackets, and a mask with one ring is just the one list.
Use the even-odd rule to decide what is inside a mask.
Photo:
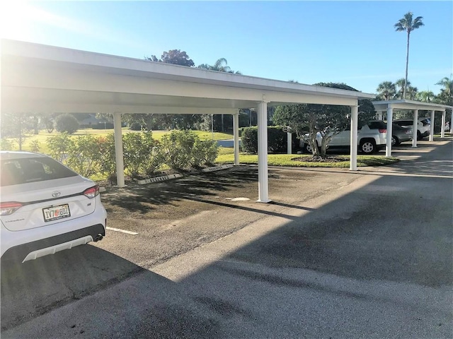
[(102, 242), (2, 266), (1, 335), (451, 338), (452, 150), (108, 189)]

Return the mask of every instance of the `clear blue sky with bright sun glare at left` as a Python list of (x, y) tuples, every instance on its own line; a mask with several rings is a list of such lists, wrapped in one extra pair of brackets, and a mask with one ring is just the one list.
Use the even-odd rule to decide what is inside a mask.
[(143, 59), (181, 49), (195, 66), (282, 81), (346, 83), (375, 93), (404, 78), (439, 93), (453, 73), (453, 1), (2, 1), (1, 37)]

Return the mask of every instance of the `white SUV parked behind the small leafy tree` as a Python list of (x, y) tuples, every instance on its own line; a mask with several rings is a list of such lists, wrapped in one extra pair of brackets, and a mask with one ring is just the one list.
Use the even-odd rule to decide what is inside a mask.
[[(338, 148), (350, 148), (350, 129), (341, 131), (332, 137), (331, 142), (328, 143), (330, 150)], [(308, 136), (308, 134), (306, 135)], [(357, 131), (357, 145), (359, 151), (365, 154), (372, 154), (378, 150), (385, 148), (387, 137), (387, 125), (382, 120), (372, 120), (364, 124), (359, 131)], [(321, 146), (322, 136), (318, 133), (316, 136), (316, 143)], [(301, 141), (301, 147), (307, 153), (311, 152), (310, 144), (305, 140)]]

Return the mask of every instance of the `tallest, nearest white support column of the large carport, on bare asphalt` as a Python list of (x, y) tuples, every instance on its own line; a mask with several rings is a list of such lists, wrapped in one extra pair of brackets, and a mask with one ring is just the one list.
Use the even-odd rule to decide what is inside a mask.
[(258, 102), (258, 203), (268, 203), (268, 104)]

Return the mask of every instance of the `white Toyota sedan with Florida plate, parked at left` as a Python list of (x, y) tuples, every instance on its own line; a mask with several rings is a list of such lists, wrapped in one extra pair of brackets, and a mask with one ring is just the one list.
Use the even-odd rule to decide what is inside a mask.
[(95, 182), (30, 152), (0, 151), (1, 261), (23, 263), (105, 236)]

